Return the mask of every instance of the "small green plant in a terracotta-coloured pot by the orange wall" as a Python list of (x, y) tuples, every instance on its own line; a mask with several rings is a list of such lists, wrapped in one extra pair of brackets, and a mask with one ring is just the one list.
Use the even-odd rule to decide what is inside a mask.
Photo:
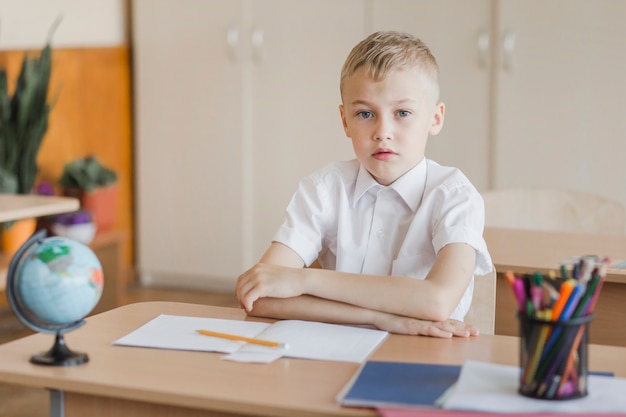
[(81, 207), (92, 213), (98, 231), (113, 226), (117, 205), (115, 171), (89, 155), (65, 164), (59, 184), (63, 194), (78, 198)]

